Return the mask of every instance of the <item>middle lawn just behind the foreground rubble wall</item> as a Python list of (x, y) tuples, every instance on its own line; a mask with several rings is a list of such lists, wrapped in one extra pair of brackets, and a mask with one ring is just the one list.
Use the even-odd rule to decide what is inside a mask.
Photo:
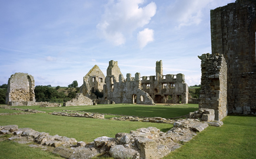
[(132, 121), (116, 121), (89, 119), (84, 117), (54, 116), (45, 113), (17, 116), (0, 116), (0, 125), (18, 125), (19, 128), (29, 127), (39, 132), (54, 136), (67, 136), (78, 141), (89, 143), (101, 136), (115, 137), (117, 133), (129, 133), (141, 127), (157, 127), (168, 131), (172, 124), (143, 123)]

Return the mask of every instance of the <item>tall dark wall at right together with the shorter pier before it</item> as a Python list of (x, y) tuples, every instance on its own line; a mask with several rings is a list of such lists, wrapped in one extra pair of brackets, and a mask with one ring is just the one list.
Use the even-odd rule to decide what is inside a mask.
[[(211, 11), (212, 55), (202, 55), (200, 108), (256, 113), (256, 1), (237, 0)], [(226, 64), (227, 63), (227, 64)]]

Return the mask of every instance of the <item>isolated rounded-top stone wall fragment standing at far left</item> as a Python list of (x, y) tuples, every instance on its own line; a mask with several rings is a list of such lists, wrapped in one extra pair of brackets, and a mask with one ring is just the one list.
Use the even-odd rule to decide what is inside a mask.
[[(35, 80), (28, 73), (15, 73), (8, 80), (6, 104), (35, 102)], [(17, 105), (17, 106), (18, 106)]]

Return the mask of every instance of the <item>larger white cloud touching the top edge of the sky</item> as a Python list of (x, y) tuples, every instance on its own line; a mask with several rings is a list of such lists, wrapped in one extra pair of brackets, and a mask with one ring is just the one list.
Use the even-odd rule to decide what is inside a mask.
[(97, 25), (101, 38), (114, 45), (122, 45), (126, 37), (130, 36), (135, 29), (147, 25), (155, 15), (157, 5), (151, 2), (141, 7), (144, 2), (144, 0), (119, 0), (117, 2), (109, 0), (101, 22)]

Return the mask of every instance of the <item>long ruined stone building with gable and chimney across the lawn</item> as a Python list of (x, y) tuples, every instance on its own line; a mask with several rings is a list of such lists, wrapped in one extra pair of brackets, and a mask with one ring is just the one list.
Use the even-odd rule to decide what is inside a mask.
[[(84, 84), (81, 87), (81, 93), (89, 97), (88, 91), (92, 90), (92, 86), (99, 87), (97, 80), (94, 84), (87, 84), (92, 77), (97, 77), (94, 68), (92, 68), (87, 76), (84, 77)], [(101, 72), (99, 70), (99, 72)], [(118, 62), (111, 60), (107, 69), (102, 93), (103, 97), (95, 99), (95, 96), (90, 96), (96, 103), (137, 103), (137, 104), (154, 104), (154, 103), (188, 103), (188, 86), (185, 83), (184, 75), (163, 75), (162, 61), (157, 62), (156, 76), (140, 77), (140, 73), (136, 73), (132, 77), (127, 73), (126, 79), (122, 75)], [(87, 82), (86, 82), (87, 81)], [(85, 89), (85, 85), (88, 87)], [(102, 87), (101, 87), (102, 88)], [(102, 89), (98, 89), (102, 90)], [(92, 93), (91, 93), (92, 94)]]

